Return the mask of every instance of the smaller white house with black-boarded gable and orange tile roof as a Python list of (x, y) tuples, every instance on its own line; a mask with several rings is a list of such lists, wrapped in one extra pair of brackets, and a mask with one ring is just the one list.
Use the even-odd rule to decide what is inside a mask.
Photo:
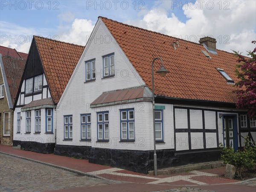
[(52, 153), (55, 107), (84, 50), (83, 46), (34, 36), (15, 99), (13, 145)]

